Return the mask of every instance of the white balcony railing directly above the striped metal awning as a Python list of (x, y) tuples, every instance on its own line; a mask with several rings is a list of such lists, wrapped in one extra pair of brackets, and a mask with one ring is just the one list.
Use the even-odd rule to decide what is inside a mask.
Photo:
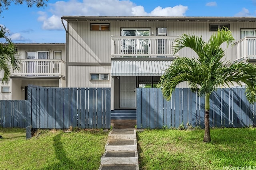
[(178, 37), (150, 36), (150, 37), (111, 37), (112, 57), (174, 57), (174, 41)]

